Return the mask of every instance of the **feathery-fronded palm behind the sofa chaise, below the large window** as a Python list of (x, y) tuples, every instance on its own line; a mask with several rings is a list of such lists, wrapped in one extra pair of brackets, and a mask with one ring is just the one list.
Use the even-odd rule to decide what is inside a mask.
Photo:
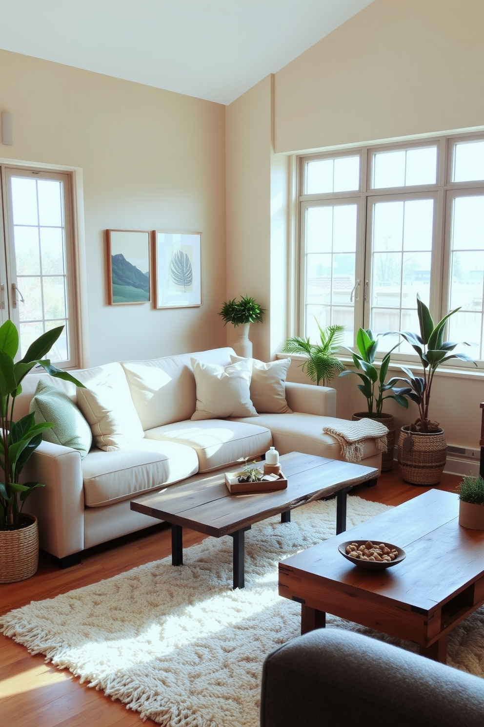
[(287, 339), (282, 350), (284, 353), (306, 356), (306, 361), (300, 364), (301, 368), (311, 381), (316, 382), (316, 385), (319, 385), (319, 382), (322, 381), (323, 386), (325, 386), (332, 377), (345, 368), (336, 356), (342, 346), (345, 326), (332, 324), (322, 329), (316, 318), (315, 320), (319, 329), (321, 343), (311, 343), (309, 338), (294, 336)]

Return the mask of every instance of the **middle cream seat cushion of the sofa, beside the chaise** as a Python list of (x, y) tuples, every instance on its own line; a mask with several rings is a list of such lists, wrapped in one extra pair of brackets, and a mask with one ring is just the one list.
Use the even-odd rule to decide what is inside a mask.
[[(148, 439), (188, 444), (197, 453), (200, 472), (226, 467), (240, 457), (257, 457), (272, 444), (271, 432), (248, 419), (247, 423), (202, 419), (175, 422), (145, 432)], [(250, 422), (250, 423), (249, 423)]]

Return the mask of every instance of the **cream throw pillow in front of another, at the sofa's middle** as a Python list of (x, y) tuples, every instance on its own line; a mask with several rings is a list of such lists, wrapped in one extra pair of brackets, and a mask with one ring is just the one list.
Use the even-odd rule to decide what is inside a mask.
[(257, 417), (250, 401), (250, 361), (229, 366), (207, 364), (198, 358), (191, 361), (197, 385), (197, 409), (192, 419)]

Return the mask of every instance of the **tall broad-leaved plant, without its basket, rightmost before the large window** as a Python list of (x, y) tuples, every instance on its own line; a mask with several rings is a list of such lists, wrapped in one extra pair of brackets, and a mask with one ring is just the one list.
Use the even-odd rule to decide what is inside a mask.
[[(404, 396), (414, 401), (419, 407), (419, 417), (414, 424), (410, 425), (410, 431), (429, 433), (439, 430), (438, 422), (431, 422), (429, 419), (430, 394), (432, 393), (432, 383), (440, 364), (450, 361), (451, 358), (459, 358), (461, 361), (475, 361), (467, 356), (466, 353), (455, 353), (454, 349), (458, 343), (444, 341), (444, 332), (448, 318), (454, 316), (454, 313), (460, 308), (455, 308), (447, 313), (437, 324), (432, 321), (430, 311), (427, 306), (420, 300), (417, 294), (417, 313), (419, 316), (419, 333), (410, 331), (388, 331), (384, 335), (399, 334), (407, 343), (411, 345), (422, 365), (422, 376), (416, 376), (412, 373), (408, 366), (401, 366), (401, 370), (406, 374), (406, 378), (394, 377), (388, 382), (389, 386), (395, 387), (398, 382), (406, 383), (405, 387), (395, 388), (398, 396)], [(468, 346), (465, 341), (462, 345)], [(477, 366), (477, 364), (475, 364)]]

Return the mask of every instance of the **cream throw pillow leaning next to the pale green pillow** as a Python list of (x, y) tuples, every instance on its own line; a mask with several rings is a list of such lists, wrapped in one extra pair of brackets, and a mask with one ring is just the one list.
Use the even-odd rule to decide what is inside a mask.
[(115, 451), (143, 438), (143, 427), (120, 364), (86, 369), (83, 384), (86, 388), (77, 390), (78, 406), (99, 449)]

